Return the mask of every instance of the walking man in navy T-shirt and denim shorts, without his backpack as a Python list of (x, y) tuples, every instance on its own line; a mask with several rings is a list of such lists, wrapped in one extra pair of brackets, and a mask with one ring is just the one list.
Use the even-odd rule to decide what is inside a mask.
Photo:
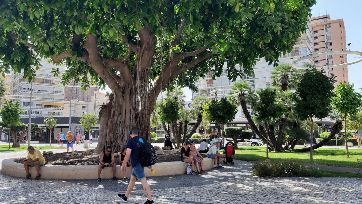
[[(126, 193), (118, 193), (118, 196), (122, 199), (123, 202), (127, 202), (128, 196), (131, 194), (131, 191), (133, 187), (135, 186), (136, 179), (138, 179), (142, 183), (142, 188), (144, 192), (147, 195), (147, 201), (144, 204), (152, 204), (152, 196), (151, 196), (151, 189), (150, 185), (148, 185), (146, 176), (144, 175), (144, 167), (141, 166), (139, 162), (139, 156), (140, 156), (140, 143), (143, 143), (143, 138), (138, 136), (139, 129), (138, 127), (132, 127), (130, 130), (131, 139), (127, 142), (127, 151), (124, 161), (128, 161), (129, 158), (131, 158), (131, 165), (133, 168), (132, 174), (131, 174), (131, 180), (128, 184), (128, 188)], [(127, 167), (127, 162), (123, 162), (121, 166), (121, 171), (123, 171), (124, 168)], [(152, 166), (149, 166), (147, 168), (152, 168)]]

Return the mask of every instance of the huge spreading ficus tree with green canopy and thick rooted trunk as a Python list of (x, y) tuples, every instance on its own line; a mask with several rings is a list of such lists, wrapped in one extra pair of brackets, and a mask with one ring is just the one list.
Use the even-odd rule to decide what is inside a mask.
[(235, 80), (259, 57), (273, 63), (291, 52), (315, 2), (1, 0), (0, 72), (24, 71), (30, 81), (42, 57), (68, 65), (64, 84), (108, 85), (114, 96), (101, 112), (108, 119), (100, 136), (119, 151), (132, 126), (150, 138), (150, 114), (163, 89), (195, 90), (195, 79), (211, 69), (220, 76), (225, 61)]

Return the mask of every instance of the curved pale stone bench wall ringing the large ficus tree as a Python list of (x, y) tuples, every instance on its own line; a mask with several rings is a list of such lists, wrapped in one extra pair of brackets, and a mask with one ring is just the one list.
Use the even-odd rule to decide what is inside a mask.
[[(25, 169), (24, 164), (15, 162), (16, 159), (4, 159), (1, 163), (1, 171), (9, 176), (24, 177)], [(150, 176), (168, 176), (177, 174), (186, 174), (188, 164), (185, 162), (161, 162), (153, 165), (153, 170), (156, 174), (152, 174), (148, 168), (144, 168), (146, 177)], [(203, 168), (209, 170), (214, 167), (214, 162), (210, 158), (204, 158)], [(35, 178), (35, 167), (29, 167), (31, 178)], [(98, 165), (89, 166), (61, 166), (61, 165), (45, 165), (40, 167), (40, 174), (42, 179), (97, 179), (98, 178)], [(116, 168), (117, 178), (122, 178), (121, 167), (118, 165)], [(126, 176), (131, 176), (131, 167), (127, 167)], [(112, 168), (105, 167), (102, 169), (101, 178), (111, 179)]]

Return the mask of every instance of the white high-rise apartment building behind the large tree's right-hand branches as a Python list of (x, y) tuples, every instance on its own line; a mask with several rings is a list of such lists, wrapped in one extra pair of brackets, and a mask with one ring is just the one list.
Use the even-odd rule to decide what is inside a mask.
[[(291, 63), (292, 59), (306, 56), (308, 54), (313, 53), (313, 40), (312, 40), (312, 28), (310, 22), (307, 24), (307, 30), (305, 33), (302, 33), (301, 36), (298, 38), (298, 41), (293, 46), (291, 53), (282, 54), (279, 57), (279, 64), (280, 63)], [(302, 65), (304, 63), (312, 63), (313, 59), (308, 59), (301, 61), (297, 65)], [(271, 72), (275, 70), (273, 64), (268, 65), (269, 62), (266, 62), (264, 58), (260, 58), (255, 65), (254, 74), (251, 76), (240, 76), (236, 78), (235, 82), (238, 81), (246, 81), (249, 85), (253, 88), (253, 90), (264, 89), (270, 86), (271, 83)], [(205, 96), (208, 98), (214, 98), (214, 91), (216, 90), (218, 93), (218, 97), (226, 96), (231, 90), (233, 86), (233, 81), (229, 80), (227, 77), (227, 70), (226, 70), (226, 62), (224, 63), (223, 73), (220, 77), (216, 77), (212, 79), (212, 71), (210, 71), (205, 78), (200, 78), (195, 85), (198, 88), (198, 91), (193, 91), (192, 99), (195, 99), (197, 96)], [(236, 65), (235, 69), (240, 70), (242, 67), (240, 65)], [(253, 110), (251, 106), (248, 106), (248, 111), (251, 115), (253, 115)], [(233, 123), (248, 123), (241, 106), (238, 107), (238, 112), (235, 116), (235, 119), (232, 121)]]

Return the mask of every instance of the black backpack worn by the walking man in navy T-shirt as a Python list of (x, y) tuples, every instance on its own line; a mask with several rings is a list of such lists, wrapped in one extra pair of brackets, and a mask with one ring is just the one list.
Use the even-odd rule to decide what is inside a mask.
[(142, 139), (143, 143), (141, 143), (138, 139), (136, 139), (137, 143), (140, 144), (139, 163), (143, 167), (149, 167), (156, 164), (157, 154), (152, 144), (146, 142), (144, 138)]

